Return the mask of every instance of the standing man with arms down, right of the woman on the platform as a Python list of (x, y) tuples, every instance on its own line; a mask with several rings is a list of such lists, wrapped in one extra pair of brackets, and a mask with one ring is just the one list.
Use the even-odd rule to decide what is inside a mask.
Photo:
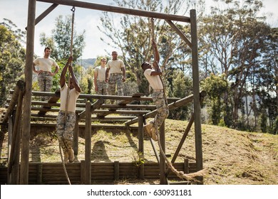
[[(107, 63), (105, 82), (108, 82), (109, 95), (115, 95), (115, 87), (117, 85), (118, 95), (123, 96), (123, 82), (125, 82), (125, 65), (123, 63), (123, 60), (120, 60), (118, 58), (118, 53), (116, 51), (112, 52), (112, 60), (109, 60)], [(114, 100), (111, 100), (111, 103), (113, 104)]]

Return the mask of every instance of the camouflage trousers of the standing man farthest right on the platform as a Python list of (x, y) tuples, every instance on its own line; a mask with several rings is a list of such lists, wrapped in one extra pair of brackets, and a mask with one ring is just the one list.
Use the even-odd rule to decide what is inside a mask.
[[(115, 95), (115, 87), (117, 85), (117, 93), (119, 96), (123, 96), (123, 75), (121, 74), (110, 74), (108, 80), (108, 92), (109, 95)], [(111, 104), (113, 104), (115, 100), (111, 100)]]

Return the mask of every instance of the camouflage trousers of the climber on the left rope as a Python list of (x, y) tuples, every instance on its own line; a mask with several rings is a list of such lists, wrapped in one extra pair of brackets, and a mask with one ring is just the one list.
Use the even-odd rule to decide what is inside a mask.
[(73, 147), (73, 130), (76, 124), (76, 114), (67, 112), (65, 121), (65, 112), (60, 111), (57, 116), (56, 133), (59, 144), (63, 149), (63, 153), (67, 153), (68, 149)]

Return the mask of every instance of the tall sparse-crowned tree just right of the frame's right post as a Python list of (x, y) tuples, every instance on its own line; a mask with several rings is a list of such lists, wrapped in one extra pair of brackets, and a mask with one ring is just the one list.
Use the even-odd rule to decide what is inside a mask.
[[(262, 1), (243, 1), (242, 4), (233, 0), (220, 2), (226, 5), (225, 9), (214, 6), (211, 16), (203, 18), (204, 24), (200, 28), (203, 51), (201, 65), (209, 70), (205, 74), (224, 73), (227, 81), (232, 83), (232, 93), (225, 93), (224, 103), (226, 107), (229, 104), (232, 107), (232, 127), (237, 128), (242, 99), (250, 95), (249, 91), (254, 85), (261, 87), (257, 82), (253, 81), (253, 84), (252, 75), (257, 67), (261, 67), (259, 63), (262, 50), (266, 48), (269, 26), (263, 22), (264, 18), (257, 17)], [(229, 116), (230, 113), (225, 115)]]

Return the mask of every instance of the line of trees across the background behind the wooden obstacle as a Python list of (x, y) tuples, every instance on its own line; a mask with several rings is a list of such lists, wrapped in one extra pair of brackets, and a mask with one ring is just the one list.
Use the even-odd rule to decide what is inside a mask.
[[(267, 24), (259, 16), (262, 1), (215, 1), (205, 12), (205, 1), (114, 0), (118, 6), (131, 9), (181, 14), (197, 11), (197, 31), (201, 90), (207, 92), (202, 104), (202, 122), (244, 131), (278, 132), (278, 28)], [(221, 5), (221, 6), (219, 6)], [(103, 12), (99, 31), (107, 45), (120, 49), (126, 66), (125, 95), (142, 92), (150, 95), (148, 82), (143, 77), (141, 63), (153, 60), (151, 49), (151, 18), (123, 15), (120, 23), (113, 23), (113, 14)], [(118, 20), (118, 19), (117, 19)], [(9, 23), (8, 23), (9, 22)], [(190, 39), (190, 24), (175, 24)], [(9, 20), (0, 25), (0, 102), (3, 105), (9, 89), (18, 78), (23, 78), (25, 51), (24, 31), (16, 29)], [(58, 16), (56, 28), (47, 38), (41, 33), (41, 45), (53, 49), (51, 57), (61, 66), (69, 55), (71, 16)], [(168, 97), (192, 94), (191, 50), (164, 20), (155, 19), (155, 41), (160, 53), (160, 67)], [(81, 58), (85, 46), (85, 31), (73, 36), (74, 60)], [(16, 43), (16, 45), (14, 45)], [(13, 48), (12, 48), (13, 47)], [(109, 55), (109, 54), (108, 54)], [(110, 58), (107, 55), (107, 58)], [(97, 58), (96, 65), (100, 64)], [(74, 67), (81, 89), (94, 94), (93, 68)], [(53, 91), (58, 88), (58, 77)], [(9, 82), (9, 84), (8, 84)], [(36, 90), (36, 83), (34, 90)], [(170, 112), (170, 119), (188, 119), (192, 104)]]

